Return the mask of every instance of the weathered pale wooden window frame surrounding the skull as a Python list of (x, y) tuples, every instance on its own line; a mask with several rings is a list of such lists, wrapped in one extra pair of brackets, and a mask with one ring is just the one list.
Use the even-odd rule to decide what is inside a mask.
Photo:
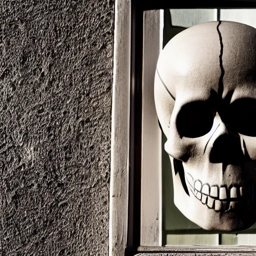
[[(160, 157), (160, 130), (157, 126), (157, 117), (153, 113), (148, 120), (148, 113), (152, 113), (154, 105), (150, 98), (152, 93), (147, 91), (148, 84), (153, 82), (153, 70), (156, 65), (158, 52), (160, 50), (162, 20), (160, 8), (184, 8), (180, 3), (170, 3), (167, 0), (155, 1), (154, 5), (146, 1), (135, 3), (131, 0), (115, 0), (115, 29), (114, 29), (114, 56), (113, 56), (113, 86), (112, 86), (112, 124), (111, 124), (111, 163), (110, 163), (110, 192), (109, 192), (109, 256), (123, 255), (247, 255), (256, 254), (256, 246), (161, 246), (161, 157)], [(214, 5), (213, 5), (214, 4)], [(217, 5), (219, 4), (219, 5)], [(240, 5), (239, 5), (240, 4)], [(139, 7), (136, 9), (134, 7)], [(149, 6), (150, 5), (150, 6)], [(184, 5), (184, 4), (183, 4)], [(199, 2), (190, 2), (186, 8), (200, 7)], [(133, 7), (132, 7), (133, 6)], [(256, 7), (255, 1), (226, 0), (208, 2), (207, 6), (211, 8), (225, 7)], [(143, 54), (141, 64), (141, 162), (140, 169), (134, 170), (132, 162), (133, 148), (130, 145), (134, 139), (134, 130), (131, 129), (131, 123), (134, 125), (134, 84), (136, 76), (134, 75), (134, 26), (133, 20), (136, 12), (146, 9), (158, 9), (152, 15), (144, 12), (143, 18), (143, 47), (140, 54)], [(152, 12), (151, 12), (152, 13)], [(256, 17), (255, 17), (256, 18)], [(133, 29), (133, 30), (132, 30)], [(151, 45), (148, 43), (151, 40)], [(142, 43), (142, 41), (141, 41)], [(148, 54), (148, 47), (152, 48), (151, 54)], [(133, 59), (133, 62), (132, 62)], [(149, 86), (150, 87), (150, 86)], [(156, 137), (151, 137), (150, 129), (147, 129), (148, 123), (151, 123), (156, 130)], [(133, 127), (134, 129), (134, 127)], [(158, 129), (158, 131), (157, 131)], [(136, 131), (139, 132), (139, 131)], [(151, 152), (147, 148), (155, 146), (154, 162), (149, 162), (148, 155)], [(133, 155), (134, 156), (134, 155)], [(154, 164), (154, 165), (153, 165)], [(152, 168), (152, 166), (153, 168)], [(156, 170), (156, 171), (152, 171)], [(138, 176), (140, 180), (134, 180), (135, 171), (141, 171)], [(148, 172), (149, 171), (149, 172)], [(133, 205), (137, 194), (134, 192), (134, 184), (141, 182), (140, 191), (140, 225), (134, 226), (134, 207)], [(146, 184), (146, 185), (144, 185)], [(150, 184), (150, 185), (148, 185)], [(148, 188), (151, 187), (151, 190)], [(150, 204), (150, 200), (153, 203)], [(142, 216), (142, 217), (141, 217)], [(139, 242), (134, 242), (135, 234), (139, 233)]]

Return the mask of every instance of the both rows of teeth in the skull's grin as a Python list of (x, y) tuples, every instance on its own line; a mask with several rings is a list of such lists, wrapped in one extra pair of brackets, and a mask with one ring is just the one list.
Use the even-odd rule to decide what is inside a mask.
[(196, 198), (201, 200), (203, 204), (207, 204), (209, 208), (214, 208), (216, 211), (230, 210), (237, 207), (241, 202), (245, 202), (248, 206), (254, 200), (254, 184), (247, 186), (232, 186), (227, 189), (226, 186), (217, 185), (209, 186), (207, 183), (202, 184), (201, 180), (193, 181), (193, 177), (187, 173), (186, 179), (189, 188)]

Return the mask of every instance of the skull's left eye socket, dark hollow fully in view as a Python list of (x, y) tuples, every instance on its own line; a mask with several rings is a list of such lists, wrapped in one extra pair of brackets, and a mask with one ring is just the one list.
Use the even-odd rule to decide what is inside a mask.
[(210, 131), (216, 114), (208, 101), (193, 101), (183, 105), (176, 118), (180, 137), (195, 138)]

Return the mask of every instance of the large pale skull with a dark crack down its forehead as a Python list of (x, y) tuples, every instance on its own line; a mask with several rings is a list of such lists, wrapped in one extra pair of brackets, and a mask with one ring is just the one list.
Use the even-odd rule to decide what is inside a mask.
[(174, 203), (208, 230), (256, 220), (256, 29), (211, 21), (174, 36), (155, 72)]

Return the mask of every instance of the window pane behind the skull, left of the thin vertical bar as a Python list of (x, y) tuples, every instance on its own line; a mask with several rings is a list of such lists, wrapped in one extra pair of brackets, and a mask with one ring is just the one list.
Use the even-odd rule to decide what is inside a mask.
[[(170, 9), (164, 11), (163, 46), (182, 30), (217, 18), (216, 9)], [(163, 244), (218, 244), (217, 232), (209, 232), (187, 219), (174, 205), (172, 173), (162, 133)]]

